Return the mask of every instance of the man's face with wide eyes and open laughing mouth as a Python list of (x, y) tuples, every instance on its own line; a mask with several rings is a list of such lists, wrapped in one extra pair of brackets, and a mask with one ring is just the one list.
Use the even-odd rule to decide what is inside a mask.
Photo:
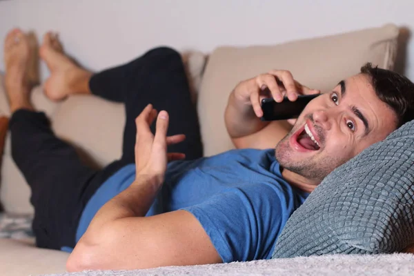
[(395, 112), (377, 97), (368, 77), (355, 75), (308, 103), (277, 144), (276, 158), (283, 168), (319, 184), (396, 127)]

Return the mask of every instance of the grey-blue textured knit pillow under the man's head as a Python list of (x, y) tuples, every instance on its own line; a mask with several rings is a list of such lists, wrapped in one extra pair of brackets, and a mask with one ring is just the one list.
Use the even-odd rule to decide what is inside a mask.
[(322, 181), (288, 219), (273, 258), (400, 251), (414, 241), (414, 121)]

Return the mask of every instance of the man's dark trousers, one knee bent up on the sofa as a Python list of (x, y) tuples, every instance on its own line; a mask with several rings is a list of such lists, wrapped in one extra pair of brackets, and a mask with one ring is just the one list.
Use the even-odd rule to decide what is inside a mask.
[(55, 136), (43, 112), (17, 110), (10, 119), (12, 157), (32, 190), (32, 228), (42, 248), (75, 246), (79, 218), (90, 197), (117, 170), (134, 163), (135, 118), (148, 103), (168, 111), (168, 135), (184, 133), (187, 137), (170, 146), (169, 152), (184, 152), (187, 159), (203, 154), (197, 113), (175, 50), (150, 50), (130, 63), (99, 72), (89, 86), (99, 97), (125, 103), (122, 157), (102, 170), (84, 165), (75, 148)]

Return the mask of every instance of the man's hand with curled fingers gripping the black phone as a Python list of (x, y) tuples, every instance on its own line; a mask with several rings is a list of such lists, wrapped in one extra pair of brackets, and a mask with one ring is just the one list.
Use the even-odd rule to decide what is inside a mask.
[(319, 94), (320, 91), (295, 81), (292, 73), (287, 70), (271, 70), (267, 74), (242, 81), (236, 86), (234, 93), (237, 100), (253, 106), (255, 115), (262, 117), (261, 102), (264, 98), (273, 97), (275, 101), (281, 102), (283, 97), (287, 95), (290, 101), (296, 101), (298, 95)]

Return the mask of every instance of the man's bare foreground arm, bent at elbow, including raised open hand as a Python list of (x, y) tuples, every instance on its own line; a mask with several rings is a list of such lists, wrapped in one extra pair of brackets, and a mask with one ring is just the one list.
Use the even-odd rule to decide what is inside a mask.
[[(106, 202), (90, 221), (68, 259), (69, 271), (137, 269), (214, 264), (221, 261), (197, 218), (185, 210), (146, 217), (164, 182), (168, 160), (183, 159), (167, 146), (184, 135), (167, 137), (168, 113), (159, 112), (155, 136), (150, 124), (157, 111), (148, 105), (137, 117), (137, 179)], [(162, 253), (162, 254), (160, 254)]]

